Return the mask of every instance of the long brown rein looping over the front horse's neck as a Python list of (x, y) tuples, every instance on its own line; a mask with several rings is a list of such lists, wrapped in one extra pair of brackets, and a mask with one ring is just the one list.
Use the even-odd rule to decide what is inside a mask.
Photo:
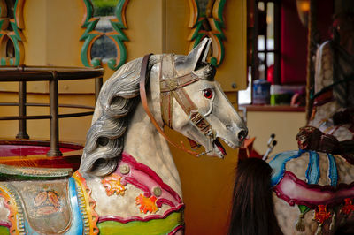
[(150, 117), (151, 123), (155, 126), (155, 128), (158, 130), (158, 133), (160, 133), (165, 140), (167, 140), (171, 145), (173, 145), (175, 148), (180, 148), (181, 150), (189, 153), (190, 155), (194, 156), (199, 156), (200, 154), (191, 151), (187, 148), (185, 148), (182, 145), (178, 145), (173, 142), (164, 132), (163, 129), (158, 125), (158, 122), (156, 121), (155, 117), (151, 114), (149, 106), (148, 106), (148, 100), (146, 98), (146, 89), (145, 89), (145, 84), (146, 84), (146, 76), (147, 76), (147, 71), (148, 71), (148, 65), (149, 65), (149, 58), (152, 54), (146, 55), (142, 58), (142, 70), (140, 71), (140, 98), (142, 100), (142, 108), (145, 110), (146, 114), (148, 117)]

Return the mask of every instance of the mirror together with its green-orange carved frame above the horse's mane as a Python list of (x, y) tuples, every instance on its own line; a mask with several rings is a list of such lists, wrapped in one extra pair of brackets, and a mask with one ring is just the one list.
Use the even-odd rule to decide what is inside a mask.
[(81, 27), (83, 46), (81, 62), (88, 67), (107, 64), (117, 70), (127, 60), (128, 41), (123, 29), (127, 28), (125, 10), (128, 0), (82, 0), (86, 14)]

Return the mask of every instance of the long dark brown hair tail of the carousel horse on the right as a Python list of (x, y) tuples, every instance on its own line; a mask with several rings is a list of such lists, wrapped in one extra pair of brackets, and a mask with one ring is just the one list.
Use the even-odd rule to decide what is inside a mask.
[(238, 163), (230, 235), (282, 234), (273, 210), (272, 168), (258, 158)]

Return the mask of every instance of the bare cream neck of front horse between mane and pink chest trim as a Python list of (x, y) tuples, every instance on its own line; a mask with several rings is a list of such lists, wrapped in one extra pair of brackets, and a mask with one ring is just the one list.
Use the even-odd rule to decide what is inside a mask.
[[(159, 103), (159, 101), (158, 101)], [(165, 138), (150, 122), (140, 103), (130, 119), (124, 151), (155, 171), (181, 196), (181, 181)]]

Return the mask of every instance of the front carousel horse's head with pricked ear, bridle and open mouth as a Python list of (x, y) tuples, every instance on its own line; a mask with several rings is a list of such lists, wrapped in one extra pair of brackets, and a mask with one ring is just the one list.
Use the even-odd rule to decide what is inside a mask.
[(227, 155), (219, 139), (237, 148), (247, 127), (214, 80), (205, 61), (211, 40), (205, 38), (188, 56), (166, 54), (159, 70), (161, 114), (165, 125), (202, 145), (204, 154)]

